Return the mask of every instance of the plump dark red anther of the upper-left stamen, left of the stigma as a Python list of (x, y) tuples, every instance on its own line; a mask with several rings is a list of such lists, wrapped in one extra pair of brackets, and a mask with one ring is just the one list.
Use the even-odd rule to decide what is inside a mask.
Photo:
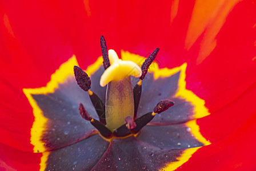
[(88, 91), (88, 89), (91, 88), (91, 79), (86, 74), (86, 72), (78, 66), (74, 66), (74, 74), (78, 86), (81, 87), (84, 91)]

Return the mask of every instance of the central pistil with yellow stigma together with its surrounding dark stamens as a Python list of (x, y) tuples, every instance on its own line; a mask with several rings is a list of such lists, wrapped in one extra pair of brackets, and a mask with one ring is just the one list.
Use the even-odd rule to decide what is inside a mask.
[[(145, 115), (137, 118), (142, 80), (145, 78), (150, 64), (157, 56), (159, 48), (156, 48), (142, 66), (139, 67), (138, 64), (132, 61), (119, 59), (114, 50), (107, 52), (106, 41), (103, 36), (101, 36), (101, 47), (105, 72), (103, 72), (99, 84), (101, 87), (107, 86), (106, 101), (103, 103), (90, 90), (91, 80), (86, 72), (78, 66), (74, 66), (77, 84), (84, 91), (89, 92), (99, 120), (91, 117), (82, 103), (79, 103), (79, 113), (83, 119), (90, 121), (106, 139), (136, 135), (154, 118), (156, 113), (162, 113), (174, 105), (171, 100), (161, 100), (154, 108), (152, 107), (153, 112), (145, 113)], [(139, 78), (134, 88), (131, 84), (130, 76)]]

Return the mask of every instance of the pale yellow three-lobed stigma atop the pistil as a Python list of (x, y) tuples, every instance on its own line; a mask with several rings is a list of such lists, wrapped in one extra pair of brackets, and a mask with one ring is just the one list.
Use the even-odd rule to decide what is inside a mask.
[(114, 50), (109, 50), (109, 60), (111, 65), (105, 70), (99, 81), (102, 87), (109, 82), (122, 80), (130, 75), (139, 77), (142, 74), (141, 67), (129, 60), (119, 59)]

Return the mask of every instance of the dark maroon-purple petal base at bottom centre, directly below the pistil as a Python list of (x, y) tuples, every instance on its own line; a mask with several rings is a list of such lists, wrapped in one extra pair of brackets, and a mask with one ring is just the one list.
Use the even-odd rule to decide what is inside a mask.
[(158, 170), (177, 161), (183, 150), (166, 150), (137, 141), (134, 137), (114, 139), (92, 170)]

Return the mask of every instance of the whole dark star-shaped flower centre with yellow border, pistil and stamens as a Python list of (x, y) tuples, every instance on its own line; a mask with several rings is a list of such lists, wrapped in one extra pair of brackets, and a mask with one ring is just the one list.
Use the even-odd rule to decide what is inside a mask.
[(186, 63), (159, 69), (159, 48), (147, 59), (121, 51), (121, 60), (103, 36), (101, 47), (86, 72), (73, 56), (46, 87), (23, 89), (40, 170), (175, 170), (210, 144), (196, 122), (210, 113), (186, 89)]

